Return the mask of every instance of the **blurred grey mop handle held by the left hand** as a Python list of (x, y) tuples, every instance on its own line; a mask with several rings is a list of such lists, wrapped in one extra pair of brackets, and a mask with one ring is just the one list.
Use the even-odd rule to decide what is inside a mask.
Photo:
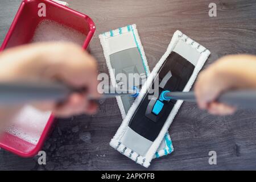
[[(85, 89), (71, 88), (59, 82), (0, 82), (0, 105), (17, 104), (29, 101), (64, 101), (69, 94), (84, 92)], [(105, 86), (100, 99), (135, 94), (134, 90), (123, 90)], [(88, 96), (90, 100), (94, 97)], [(98, 100), (98, 99), (97, 99)]]

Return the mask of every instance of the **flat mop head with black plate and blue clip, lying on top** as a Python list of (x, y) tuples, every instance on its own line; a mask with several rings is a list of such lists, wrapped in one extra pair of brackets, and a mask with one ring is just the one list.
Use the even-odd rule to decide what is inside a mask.
[[(156, 64), (139, 96), (128, 111), (110, 146), (144, 167), (150, 166), (182, 101), (165, 102), (166, 90), (188, 92), (210, 52), (180, 31), (176, 31), (166, 53)], [(148, 90), (159, 77), (159, 94)]]

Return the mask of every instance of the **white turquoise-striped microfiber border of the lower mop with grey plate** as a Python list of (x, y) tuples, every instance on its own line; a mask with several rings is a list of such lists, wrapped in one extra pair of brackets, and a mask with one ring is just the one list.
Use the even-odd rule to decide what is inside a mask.
[[(113, 36), (118, 36), (118, 35), (121, 35), (121, 34), (125, 34), (127, 32), (133, 33), (135, 44), (136, 44), (136, 47), (138, 47), (139, 52), (141, 54), (141, 58), (142, 58), (142, 61), (143, 61), (143, 65), (144, 65), (144, 69), (146, 71), (146, 74), (147, 74), (147, 76), (150, 74), (150, 68), (148, 67), (147, 58), (145, 56), (141, 40), (139, 39), (139, 34), (138, 34), (138, 31), (137, 31), (136, 24), (132, 24), (132, 25), (129, 25), (129, 26), (126, 26), (126, 27), (121, 27), (121, 28), (118, 28), (118, 29), (115, 29), (115, 30), (111, 30), (109, 32), (105, 32), (104, 34), (100, 34), (99, 38), (100, 38), (102, 48), (104, 50), (104, 56), (105, 56), (105, 59), (106, 59), (106, 64), (107, 64), (108, 70), (109, 70), (110, 80), (111, 80), (113, 86), (117, 86), (117, 81), (115, 80), (113, 67), (110, 63), (110, 57), (109, 57), (110, 51), (109, 51), (109, 46), (106, 43), (106, 39), (111, 38)], [(121, 111), (122, 119), (125, 119), (126, 113), (125, 113), (125, 108), (123, 106), (121, 97), (117, 96), (115, 98), (117, 99), (117, 104), (118, 104), (119, 110)], [(170, 137), (170, 134), (168, 133), (168, 131), (167, 131), (167, 133), (166, 133), (162, 142), (164, 142), (165, 147), (156, 151), (155, 155), (154, 155), (154, 158), (159, 158), (161, 156), (171, 154), (171, 152), (174, 151), (174, 147), (172, 146), (171, 137)]]

